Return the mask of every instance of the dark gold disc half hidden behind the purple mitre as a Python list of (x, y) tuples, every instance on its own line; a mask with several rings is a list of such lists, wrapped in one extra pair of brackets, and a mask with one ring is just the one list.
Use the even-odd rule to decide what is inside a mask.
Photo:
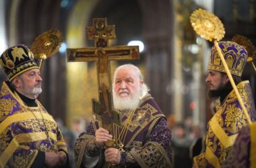
[(253, 67), (255, 73), (256, 73), (256, 68), (255, 65), (253, 64), (253, 60), (256, 58), (256, 48), (253, 46), (253, 43), (251, 40), (246, 38), (245, 36), (236, 34), (233, 36), (232, 42), (236, 42), (237, 44), (240, 44), (241, 46), (244, 46), (245, 49), (247, 50), (247, 62), (251, 63), (251, 66)]

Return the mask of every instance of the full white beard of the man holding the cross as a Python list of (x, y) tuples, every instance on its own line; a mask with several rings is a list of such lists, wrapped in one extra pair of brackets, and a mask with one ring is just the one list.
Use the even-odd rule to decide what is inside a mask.
[(113, 103), (116, 110), (135, 110), (139, 106), (141, 90), (137, 91), (133, 97), (119, 97), (113, 91)]

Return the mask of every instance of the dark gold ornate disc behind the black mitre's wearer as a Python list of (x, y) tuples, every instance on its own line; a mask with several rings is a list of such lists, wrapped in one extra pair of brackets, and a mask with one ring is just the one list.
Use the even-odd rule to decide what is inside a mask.
[(51, 29), (40, 34), (32, 43), (31, 51), (35, 59), (41, 59), (39, 68), (42, 69), (43, 60), (50, 58), (59, 51), (63, 42), (63, 35), (59, 30)]

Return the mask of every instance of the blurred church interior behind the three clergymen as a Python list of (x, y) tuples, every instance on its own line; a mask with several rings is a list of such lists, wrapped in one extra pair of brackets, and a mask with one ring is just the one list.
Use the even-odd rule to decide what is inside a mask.
[[(63, 33), (59, 52), (42, 67), (39, 99), (77, 137), (92, 117), (92, 98), (98, 99), (96, 62), (67, 62), (66, 49), (94, 46), (86, 37), (86, 26), (92, 26), (93, 18), (106, 17), (116, 32), (110, 46), (133, 40), (143, 44), (139, 60), (111, 61), (111, 73), (125, 63), (138, 66), (170, 129), (182, 123), (189, 127), (185, 132), (197, 126), (202, 135), (212, 118), (205, 77), (213, 44), (191, 27), (189, 16), (198, 8), (220, 18), (225, 28), (222, 40), (241, 34), (256, 45), (255, 0), (0, 0), (0, 52), (15, 44), (31, 47), (51, 28)], [(0, 79), (7, 80), (2, 70)], [(250, 81), (255, 97), (255, 72), (249, 65), (243, 79)]]

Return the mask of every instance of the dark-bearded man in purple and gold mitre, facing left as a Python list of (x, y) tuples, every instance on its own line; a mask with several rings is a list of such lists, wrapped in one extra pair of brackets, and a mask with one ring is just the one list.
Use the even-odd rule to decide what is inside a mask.
[[(232, 74), (245, 108), (252, 121), (256, 119), (255, 103), (249, 81), (242, 81), (241, 75), (247, 62), (247, 50), (235, 42), (218, 42), (228, 69)], [(216, 114), (207, 124), (205, 151), (193, 158), (194, 167), (221, 167), (241, 129), (248, 121), (215, 46), (212, 47), (208, 75), (205, 79), (209, 86), (209, 97), (217, 98)]]

